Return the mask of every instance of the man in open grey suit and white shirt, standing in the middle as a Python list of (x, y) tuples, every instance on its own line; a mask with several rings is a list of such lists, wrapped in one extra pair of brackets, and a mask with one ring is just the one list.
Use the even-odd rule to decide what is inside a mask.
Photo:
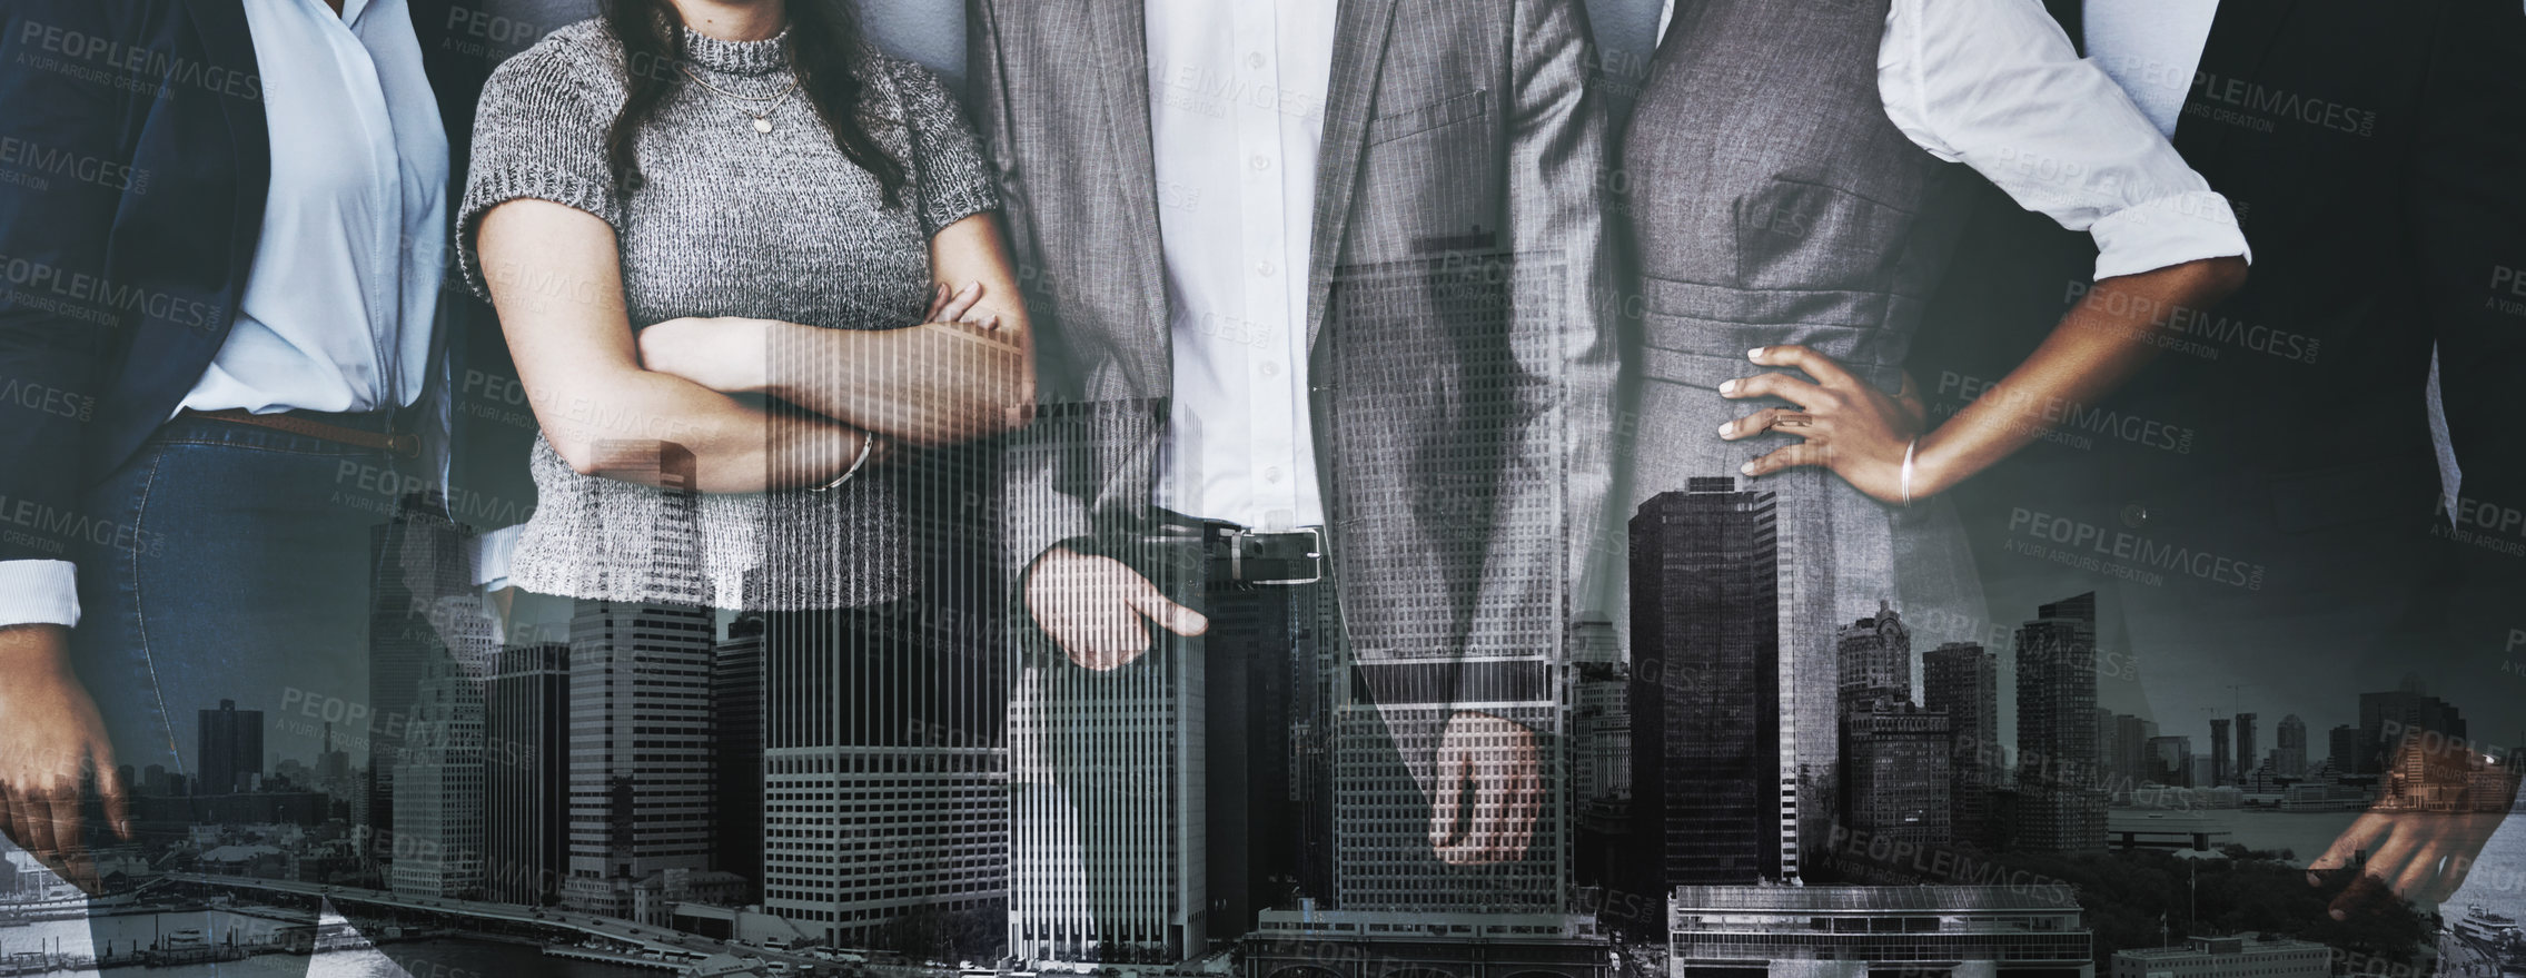
[[(1574, 432), (1607, 427), (1614, 371), (1579, 3), (980, 0), (967, 20), (1038, 323), (1031, 440), (1058, 442), (1018, 455), (1005, 523), (1058, 647), (1038, 715), (1066, 728), (1041, 748), (1089, 890), (1038, 920), (1021, 882), (1013, 953), (1235, 938), (1288, 895), (1266, 877), (1339, 872), (1346, 907), (1559, 900), (1528, 892), (1564, 842), (1553, 720), (1526, 705), (1551, 697), (1566, 528), (1604, 495), (1601, 468), (1564, 470), (1601, 450)], [(1326, 622), (1349, 667), (1281, 637)], [(1207, 652), (1152, 647), (1205, 627)], [(1197, 733), (1207, 710), (1190, 806), (1149, 783), (1175, 768), (1106, 761), (1124, 728), (1099, 710), (1152, 715), (1137, 695)], [(1260, 710), (1334, 733), (1243, 743), (1288, 740)], [(1248, 811), (1316, 783), (1319, 748), (1341, 783), (1301, 806), (1339, 811)], [(1207, 854), (1149, 849), (1182, 829), (1157, 819), (1205, 819)], [(1339, 859), (1263, 854), (1301, 819)]]

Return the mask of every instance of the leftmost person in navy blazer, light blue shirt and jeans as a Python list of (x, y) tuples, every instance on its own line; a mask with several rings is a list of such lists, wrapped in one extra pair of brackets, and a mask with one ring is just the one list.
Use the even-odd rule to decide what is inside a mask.
[(407, 0), (0, 13), (0, 377), (45, 392), (0, 425), (5, 829), (134, 884), (83, 768), (149, 844), (366, 730), (371, 531), (440, 473), (450, 142)]

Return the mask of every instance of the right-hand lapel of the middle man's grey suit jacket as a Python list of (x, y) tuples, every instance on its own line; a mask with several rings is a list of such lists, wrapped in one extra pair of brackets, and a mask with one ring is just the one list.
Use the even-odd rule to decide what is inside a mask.
[(1324, 311), (1334, 296), (1334, 265), (1351, 222), (1351, 192), (1369, 144), (1377, 78), (1384, 71), (1387, 33), (1397, 0), (1341, 0), (1334, 23), (1334, 78), (1324, 96), (1324, 142), (1316, 154), (1316, 238), (1306, 268), (1306, 349), (1316, 349)]

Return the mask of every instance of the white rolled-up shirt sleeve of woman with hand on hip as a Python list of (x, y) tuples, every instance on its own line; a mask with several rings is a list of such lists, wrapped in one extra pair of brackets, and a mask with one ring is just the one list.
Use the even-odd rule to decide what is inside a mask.
[[(1660, 35), (1672, 18), (1667, 0)], [(1877, 96), (1920, 149), (2097, 238), (2097, 278), (2251, 255), (2228, 197), (2112, 76), (2079, 58), (2038, 3), (1894, 0)]]

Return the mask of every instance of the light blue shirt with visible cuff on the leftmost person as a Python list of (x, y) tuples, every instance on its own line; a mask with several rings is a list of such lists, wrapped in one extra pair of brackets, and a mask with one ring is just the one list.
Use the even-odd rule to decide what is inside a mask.
[[(179, 409), (407, 407), (447, 258), (447, 129), (407, 0), (245, 0), (273, 179), (237, 318)], [(0, 561), (0, 624), (76, 624), (68, 561)]]

